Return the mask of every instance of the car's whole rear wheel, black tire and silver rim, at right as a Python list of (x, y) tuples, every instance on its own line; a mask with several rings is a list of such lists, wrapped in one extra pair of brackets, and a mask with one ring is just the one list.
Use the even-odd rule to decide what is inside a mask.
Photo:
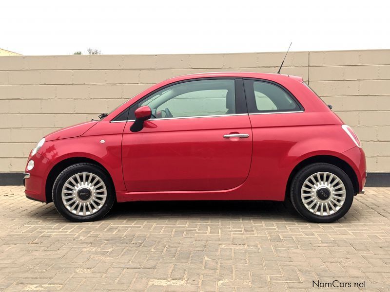
[(295, 175), (291, 201), (296, 211), (312, 222), (329, 223), (343, 217), (353, 201), (351, 179), (339, 167), (310, 164)]

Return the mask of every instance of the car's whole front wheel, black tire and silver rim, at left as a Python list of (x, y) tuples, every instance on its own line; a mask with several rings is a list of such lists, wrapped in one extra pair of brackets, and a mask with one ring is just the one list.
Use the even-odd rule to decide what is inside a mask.
[(57, 211), (76, 222), (102, 218), (115, 201), (111, 178), (104, 169), (90, 163), (65, 168), (54, 182), (52, 197)]

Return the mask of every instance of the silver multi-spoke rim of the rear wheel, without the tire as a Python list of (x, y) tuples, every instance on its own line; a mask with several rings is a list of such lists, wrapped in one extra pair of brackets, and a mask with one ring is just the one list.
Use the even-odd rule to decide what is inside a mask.
[(312, 174), (301, 188), (301, 199), (306, 209), (320, 216), (329, 216), (340, 210), (345, 197), (344, 183), (330, 172)]

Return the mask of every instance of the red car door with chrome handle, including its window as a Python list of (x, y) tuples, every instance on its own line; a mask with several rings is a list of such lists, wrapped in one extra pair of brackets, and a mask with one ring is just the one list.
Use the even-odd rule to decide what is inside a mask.
[(128, 121), (122, 139), (128, 191), (207, 191), (239, 186), (248, 177), (252, 129), (240, 78), (205, 78), (168, 85), (130, 108), (148, 105), (139, 132)]

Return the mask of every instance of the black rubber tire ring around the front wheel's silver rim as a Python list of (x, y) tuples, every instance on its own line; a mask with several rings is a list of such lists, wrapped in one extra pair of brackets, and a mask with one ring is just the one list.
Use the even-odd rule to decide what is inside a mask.
[[(95, 176), (98, 176), (103, 181), (106, 188), (106, 198), (104, 203), (101, 204), (100, 209), (95, 211), (95, 213), (91, 212), (92, 214), (90, 215), (80, 216), (72, 213), (65, 207), (64, 202), (62, 201), (61, 193), (62, 193), (62, 187), (64, 186), (66, 181), (72, 176), (82, 172), (94, 174)], [(115, 192), (114, 192), (114, 187), (113, 187), (111, 177), (103, 168), (101, 168), (96, 164), (91, 164), (91, 163), (77, 163), (66, 167), (58, 175), (58, 177), (56, 178), (53, 184), (52, 198), (57, 211), (63, 217), (75, 222), (86, 222), (86, 221), (95, 221), (107, 215), (107, 213), (111, 210), (111, 208), (114, 205)]]

